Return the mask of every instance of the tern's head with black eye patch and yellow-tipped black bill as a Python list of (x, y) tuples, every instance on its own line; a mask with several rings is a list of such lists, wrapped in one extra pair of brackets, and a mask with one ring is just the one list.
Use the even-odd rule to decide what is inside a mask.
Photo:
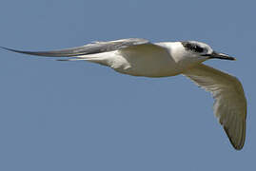
[(187, 56), (197, 60), (206, 61), (208, 59), (223, 59), (223, 60), (236, 60), (234, 57), (228, 56), (224, 53), (214, 51), (205, 43), (197, 41), (181, 42), (186, 50)]

